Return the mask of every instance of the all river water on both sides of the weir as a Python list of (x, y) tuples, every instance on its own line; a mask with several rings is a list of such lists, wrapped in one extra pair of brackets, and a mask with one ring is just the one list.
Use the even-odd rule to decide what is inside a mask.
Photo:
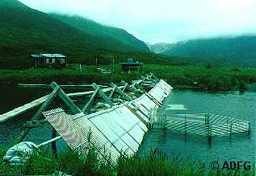
[[(12, 108), (51, 92), (48, 88), (1, 89), (0, 113), (5, 113)], [(164, 104), (183, 104), (187, 110), (182, 113), (215, 113), (250, 121), (253, 127), (252, 133), (250, 135), (247, 135), (247, 133), (233, 135), (231, 142), (229, 137), (214, 137), (212, 145), (208, 145), (206, 137), (187, 136), (185, 141), (184, 135), (181, 133), (174, 133), (168, 129), (152, 129), (145, 135), (144, 142), (138, 152), (139, 155), (158, 149), (162, 153), (166, 153), (170, 158), (179, 155), (183, 159), (189, 158), (191, 162), (200, 160), (205, 164), (213, 161), (255, 162), (256, 92), (207, 93), (174, 91), (166, 98)], [(28, 112), (23, 116), (1, 124), (0, 146), (11, 145), (12, 141), (19, 136), (25, 121), (33, 113), (35, 112)], [(172, 113), (180, 112), (167, 111), (166, 113), (171, 115)], [(25, 140), (39, 144), (50, 138), (51, 127), (45, 124), (43, 128), (31, 129)], [(57, 146), (60, 149), (66, 145), (64, 141), (57, 141)]]

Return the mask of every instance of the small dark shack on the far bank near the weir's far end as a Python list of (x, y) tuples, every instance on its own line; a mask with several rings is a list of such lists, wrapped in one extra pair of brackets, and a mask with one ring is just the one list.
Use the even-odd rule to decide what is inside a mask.
[(127, 62), (120, 63), (121, 71), (123, 72), (141, 72), (142, 71), (142, 63), (141, 62), (133, 62), (132, 58), (127, 59)]

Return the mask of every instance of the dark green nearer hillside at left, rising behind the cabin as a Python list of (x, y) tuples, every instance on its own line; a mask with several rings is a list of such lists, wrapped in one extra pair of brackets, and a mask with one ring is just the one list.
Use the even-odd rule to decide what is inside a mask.
[(0, 1), (0, 26), (1, 68), (27, 68), (33, 53), (62, 53), (69, 63), (90, 63), (98, 57), (104, 63), (104, 57), (116, 53), (149, 52), (128, 33), (128, 43), (91, 35), (16, 0)]

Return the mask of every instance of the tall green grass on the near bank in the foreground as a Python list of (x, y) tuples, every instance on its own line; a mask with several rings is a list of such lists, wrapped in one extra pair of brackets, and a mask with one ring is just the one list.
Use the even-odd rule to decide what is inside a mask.
[(120, 157), (117, 163), (99, 161), (94, 149), (85, 155), (67, 150), (54, 158), (50, 153), (34, 154), (23, 166), (11, 166), (2, 161), (5, 149), (0, 150), (0, 174), (57, 174), (72, 175), (255, 175), (251, 170), (211, 170), (201, 162), (183, 161), (180, 158), (169, 160), (166, 155), (153, 151), (149, 156)]

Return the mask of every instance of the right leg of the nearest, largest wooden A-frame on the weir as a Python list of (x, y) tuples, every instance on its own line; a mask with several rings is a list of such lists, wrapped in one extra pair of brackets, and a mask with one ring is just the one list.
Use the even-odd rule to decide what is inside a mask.
[[(51, 88), (55, 89), (57, 87), (60, 87), (60, 86), (53, 81), (51, 84)], [(73, 113), (81, 113), (82, 112), (81, 109), (78, 108), (78, 106), (73, 103), (73, 100), (71, 100), (69, 98), (69, 96), (67, 96), (67, 94), (65, 94), (65, 92), (61, 88), (57, 92), (57, 94), (58, 94), (58, 96), (60, 96), (61, 100), (63, 100), (65, 102), (65, 104), (72, 110)]]

